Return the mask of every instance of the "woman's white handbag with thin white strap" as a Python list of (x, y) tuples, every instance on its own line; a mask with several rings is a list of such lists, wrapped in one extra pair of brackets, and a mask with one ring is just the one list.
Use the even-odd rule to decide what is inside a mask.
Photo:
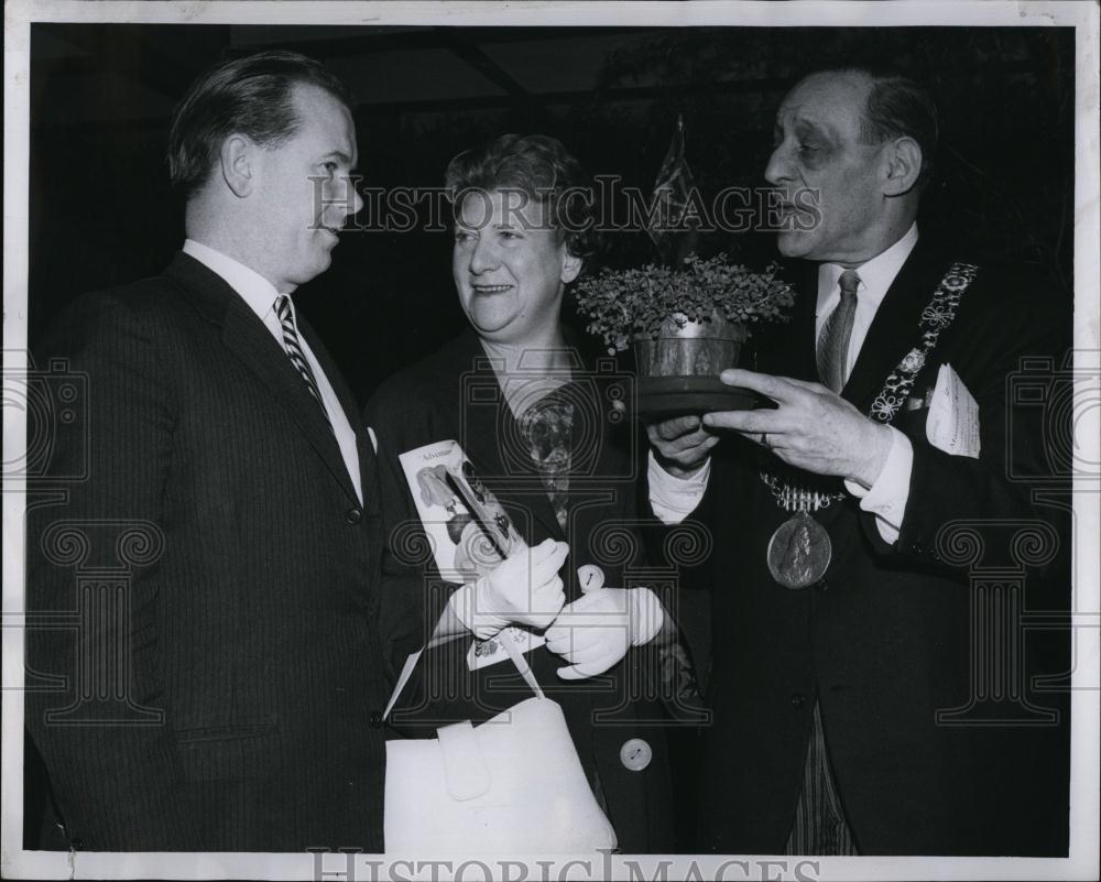
[[(615, 848), (556, 701), (502, 640), (535, 698), (435, 739), (386, 742), (388, 853), (595, 853)], [(421, 653), (410, 656), (386, 715)]]

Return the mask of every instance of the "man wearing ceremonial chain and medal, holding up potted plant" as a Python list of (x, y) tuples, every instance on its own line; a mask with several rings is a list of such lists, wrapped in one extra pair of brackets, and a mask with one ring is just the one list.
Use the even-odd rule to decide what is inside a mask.
[(936, 142), (904, 77), (802, 80), (765, 173), (794, 315), (722, 374), (767, 403), (648, 429), (652, 500), (716, 533), (704, 850), (1066, 854), (1066, 697), (1033, 692), (1066, 643), (1021, 611), (1068, 608), (1069, 543), (1009, 396), (1070, 307), (918, 236)]

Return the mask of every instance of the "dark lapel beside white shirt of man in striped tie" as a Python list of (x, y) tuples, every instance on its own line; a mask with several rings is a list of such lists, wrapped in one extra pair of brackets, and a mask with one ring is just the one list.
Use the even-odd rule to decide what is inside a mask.
[[(201, 315), (221, 326), (226, 348), (287, 409), (341, 489), (358, 503), (340, 448), (325, 415), (263, 322), (220, 275), (187, 254), (177, 254), (165, 275), (179, 285)], [(313, 348), (313, 340), (309, 342)], [(329, 375), (328, 370), (326, 374)]]

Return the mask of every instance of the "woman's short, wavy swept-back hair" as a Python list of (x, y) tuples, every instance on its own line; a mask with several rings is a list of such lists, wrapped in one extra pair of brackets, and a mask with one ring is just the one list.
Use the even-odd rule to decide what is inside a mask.
[(566, 248), (582, 260), (599, 248), (596, 193), (581, 164), (562, 142), (545, 134), (502, 134), (448, 163), (445, 186), (458, 210), (467, 194), (523, 194), (548, 210), (548, 222)]

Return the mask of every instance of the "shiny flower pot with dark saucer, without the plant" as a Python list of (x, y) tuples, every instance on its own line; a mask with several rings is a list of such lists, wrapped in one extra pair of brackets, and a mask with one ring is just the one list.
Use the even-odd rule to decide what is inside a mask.
[(712, 313), (700, 322), (674, 315), (665, 319), (656, 338), (636, 337), (639, 412), (664, 417), (752, 407), (752, 392), (719, 379), (727, 368), (738, 367), (746, 336), (744, 325)]

